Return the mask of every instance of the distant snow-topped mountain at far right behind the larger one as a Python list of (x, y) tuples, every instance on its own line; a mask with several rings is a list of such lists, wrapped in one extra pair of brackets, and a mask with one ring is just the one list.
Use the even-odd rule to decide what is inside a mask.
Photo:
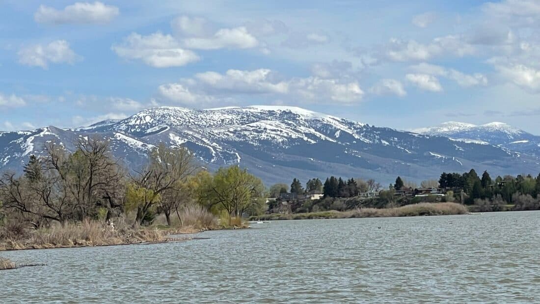
[(540, 156), (540, 136), (535, 136), (505, 123), (493, 122), (473, 125), (448, 121), (435, 127), (417, 129), (413, 132), (444, 136), (469, 143), (495, 145), (509, 151)]

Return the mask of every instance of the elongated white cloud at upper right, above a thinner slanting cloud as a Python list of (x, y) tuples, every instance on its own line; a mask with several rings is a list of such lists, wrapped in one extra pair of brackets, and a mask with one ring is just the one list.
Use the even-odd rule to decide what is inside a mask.
[(428, 44), (392, 38), (384, 49), (384, 57), (397, 62), (426, 61), (447, 53), (459, 57), (475, 53), (474, 46), (453, 35), (437, 37)]

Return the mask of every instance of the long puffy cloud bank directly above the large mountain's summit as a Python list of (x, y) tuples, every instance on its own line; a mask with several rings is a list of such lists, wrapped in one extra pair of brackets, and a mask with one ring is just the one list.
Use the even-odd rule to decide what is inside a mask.
[(161, 85), (158, 91), (167, 99), (188, 105), (210, 104), (241, 94), (352, 104), (359, 102), (364, 94), (357, 82), (319, 77), (284, 79), (268, 69), (198, 73), (193, 78), (181, 79), (179, 83)]

